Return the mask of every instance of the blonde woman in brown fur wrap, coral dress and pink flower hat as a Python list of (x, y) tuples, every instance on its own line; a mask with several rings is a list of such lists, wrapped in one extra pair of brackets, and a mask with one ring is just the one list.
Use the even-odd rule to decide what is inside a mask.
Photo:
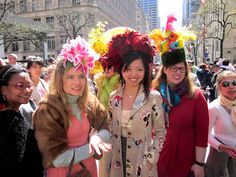
[(64, 44), (49, 93), (34, 113), (47, 177), (83, 171), (97, 177), (95, 158), (111, 149), (107, 112), (88, 89), (87, 75), (93, 61), (94, 54), (80, 36)]

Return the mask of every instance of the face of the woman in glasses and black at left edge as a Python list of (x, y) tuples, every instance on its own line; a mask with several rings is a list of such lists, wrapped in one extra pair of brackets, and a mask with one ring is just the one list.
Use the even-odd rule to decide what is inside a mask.
[(33, 91), (33, 83), (28, 73), (13, 74), (7, 86), (2, 87), (2, 94), (10, 105), (20, 106), (28, 103)]

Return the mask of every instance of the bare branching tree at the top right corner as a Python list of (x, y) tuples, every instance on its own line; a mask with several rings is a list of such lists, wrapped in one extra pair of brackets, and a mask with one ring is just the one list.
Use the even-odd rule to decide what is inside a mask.
[[(235, 0), (207, 0), (200, 9), (203, 18), (205, 39), (220, 43), (220, 58), (223, 58), (225, 38), (234, 28), (236, 17)], [(207, 27), (207, 31), (206, 31)]]

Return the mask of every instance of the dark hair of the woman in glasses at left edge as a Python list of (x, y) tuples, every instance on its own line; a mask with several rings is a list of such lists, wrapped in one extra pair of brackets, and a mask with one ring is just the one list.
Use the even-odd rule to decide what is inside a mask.
[(22, 72), (28, 73), (27, 70), (20, 65), (5, 65), (0, 70), (0, 104), (4, 104), (6, 106), (8, 105), (7, 101), (2, 95), (2, 86), (8, 85), (8, 82), (11, 80), (14, 74), (19, 74)]

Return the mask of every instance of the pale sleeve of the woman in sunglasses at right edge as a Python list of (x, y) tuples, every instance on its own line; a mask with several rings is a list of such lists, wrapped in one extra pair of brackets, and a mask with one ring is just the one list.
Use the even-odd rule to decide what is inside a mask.
[(208, 134), (208, 142), (209, 144), (218, 150), (219, 145), (221, 144), (219, 141), (217, 141), (213, 135), (213, 128), (215, 126), (215, 123), (217, 121), (217, 108), (215, 105), (215, 101), (211, 102), (209, 105), (209, 134)]

